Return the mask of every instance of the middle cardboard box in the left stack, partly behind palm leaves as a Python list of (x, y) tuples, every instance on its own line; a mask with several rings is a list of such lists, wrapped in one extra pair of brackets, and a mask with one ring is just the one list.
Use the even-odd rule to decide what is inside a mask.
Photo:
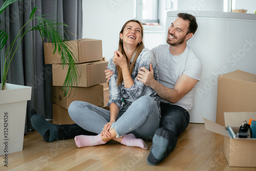
[[(107, 61), (77, 64), (78, 72), (81, 74), (78, 80), (78, 87), (90, 87), (105, 83), (104, 70), (108, 66)], [(62, 64), (52, 65), (52, 78), (54, 86), (62, 86), (68, 73), (68, 66), (62, 68)]]

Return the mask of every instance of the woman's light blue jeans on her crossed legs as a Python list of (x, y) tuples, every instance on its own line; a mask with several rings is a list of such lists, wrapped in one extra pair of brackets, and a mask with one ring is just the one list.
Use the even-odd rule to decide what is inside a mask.
[[(87, 102), (74, 101), (69, 106), (71, 119), (80, 127), (100, 134), (103, 126), (110, 122), (110, 111)], [(160, 113), (156, 102), (148, 96), (123, 105), (117, 120), (112, 124), (117, 137), (132, 133), (136, 138), (152, 139), (160, 124)]]

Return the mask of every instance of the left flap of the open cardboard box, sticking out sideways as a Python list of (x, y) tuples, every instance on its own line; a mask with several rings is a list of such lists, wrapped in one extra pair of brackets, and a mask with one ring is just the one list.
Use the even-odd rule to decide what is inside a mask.
[(215, 122), (212, 122), (208, 119), (205, 119), (205, 118), (203, 118), (203, 120), (204, 120), (205, 129), (230, 138), (230, 136), (224, 126), (221, 126), (221, 125), (219, 125)]

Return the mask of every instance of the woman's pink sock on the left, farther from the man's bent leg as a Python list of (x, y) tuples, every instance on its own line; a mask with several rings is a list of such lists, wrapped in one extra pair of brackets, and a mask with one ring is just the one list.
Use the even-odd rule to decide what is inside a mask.
[(84, 135), (76, 136), (75, 142), (78, 148), (101, 145), (106, 143), (101, 140), (100, 134), (97, 136), (84, 136)]

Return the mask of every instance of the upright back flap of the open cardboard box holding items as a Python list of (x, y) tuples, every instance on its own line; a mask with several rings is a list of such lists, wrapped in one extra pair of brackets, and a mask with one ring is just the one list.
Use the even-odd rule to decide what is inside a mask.
[(225, 126), (240, 127), (249, 119), (256, 119), (256, 112), (224, 112)]

